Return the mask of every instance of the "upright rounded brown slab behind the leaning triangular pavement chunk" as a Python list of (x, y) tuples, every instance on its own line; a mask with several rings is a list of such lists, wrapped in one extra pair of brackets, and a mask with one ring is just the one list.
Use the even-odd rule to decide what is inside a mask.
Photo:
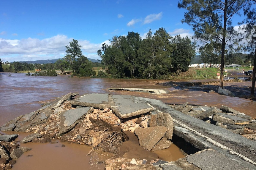
[(165, 126), (167, 128), (167, 132), (165, 137), (167, 139), (172, 139), (173, 137), (173, 119), (170, 114), (167, 113), (158, 113), (153, 114), (148, 119), (148, 127), (154, 126)]

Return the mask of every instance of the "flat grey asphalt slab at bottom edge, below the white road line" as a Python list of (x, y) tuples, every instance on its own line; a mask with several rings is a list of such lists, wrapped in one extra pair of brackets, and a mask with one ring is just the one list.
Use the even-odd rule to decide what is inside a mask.
[(200, 167), (202, 170), (248, 170), (246, 167), (239, 164), (238, 162), (211, 149), (188, 155), (187, 161), (189, 163), (193, 163), (195, 166)]

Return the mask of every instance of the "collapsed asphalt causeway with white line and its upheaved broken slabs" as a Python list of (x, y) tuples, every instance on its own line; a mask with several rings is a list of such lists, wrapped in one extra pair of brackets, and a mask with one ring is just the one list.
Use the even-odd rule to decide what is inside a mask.
[[(143, 160), (139, 161), (141, 162), (140, 164), (135, 161), (134, 164), (139, 164), (147, 169), (212, 169), (213, 167), (227, 170), (256, 169), (255, 141), (201, 120), (208, 117), (208, 114), (213, 115), (214, 119), (220, 119), (222, 114), (209, 113), (212, 108), (206, 113), (191, 116), (182, 113), (179, 107), (172, 107), (155, 99), (109, 94), (85, 94), (72, 99), (75, 95), (78, 94), (69, 93), (35, 112), (19, 116), (4, 124), (0, 127), (0, 130), (42, 133), (49, 136), (48, 138), (91, 144), (93, 146), (102, 144), (96, 144), (99, 139), (97, 138), (98, 136), (101, 139), (107, 139), (108, 143), (106, 144), (115, 140), (115, 148), (118, 148), (117, 146), (121, 142), (127, 140), (121, 129), (122, 131), (129, 130), (130, 132), (135, 132), (139, 138), (140, 145), (147, 150), (161, 148), (163, 145), (159, 144), (160, 141), (165, 145), (170, 145), (170, 140), (174, 143), (176, 142), (176, 145), (179, 145), (181, 141), (189, 143), (188, 145), (186, 144), (188, 147), (181, 148), (189, 155), (177, 161), (154, 160), (150, 162), (150, 165), (145, 164)], [(97, 109), (104, 110), (97, 111)], [(117, 116), (116, 119), (113, 119), (114, 116), (109, 116), (105, 121), (107, 123), (98, 121), (101, 116), (112, 112)], [(87, 118), (86, 116), (89, 114), (93, 115)], [(140, 115), (144, 115), (141, 116), (140, 125), (133, 124), (133, 127), (132, 122), (130, 125), (122, 125), (125, 121), (121, 122), (121, 120)], [(148, 122), (143, 124), (142, 122), (146, 119), (148, 119)], [(223, 119), (226, 120), (227, 118), (224, 117)], [(242, 119), (244, 118), (237, 119), (233, 124), (236, 124), (237, 121), (241, 123)], [(103, 124), (98, 126), (96, 130), (83, 126), (83, 124), (89, 124), (89, 122), (94, 127), (101, 123)], [(247, 121), (247, 124), (249, 122)], [(143, 126), (147, 125), (149, 125), (149, 128), (143, 128)], [(108, 128), (100, 129), (99, 127)], [(111, 130), (108, 131), (107, 129)], [(151, 129), (150, 132), (149, 129)], [(90, 138), (84, 137), (88, 133), (95, 134), (95, 132), (100, 133), (96, 133), (97, 135)], [(163, 136), (158, 136), (158, 134), (163, 134)], [(27, 142), (31, 140), (40, 141), (40, 138), (38, 135), (34, 139), (30, 138)], [(145, 140), (150, 138), (154, 138), (154, 141)], [(182, 140), (178, 141), (179, 138)], [(195, 148), (192, 147), (193, 149), (191, 149), (191, 146)], [(118, 153), (118, 150), (114, 149), (113, 153)], [(109, 168), (111, 161), (113, 163), (115, 160), (105, 161), (106, 167)], [(124, 164), (124, 166), (127, 165)], [(140, 168), (138, 167), (138, 169)]]

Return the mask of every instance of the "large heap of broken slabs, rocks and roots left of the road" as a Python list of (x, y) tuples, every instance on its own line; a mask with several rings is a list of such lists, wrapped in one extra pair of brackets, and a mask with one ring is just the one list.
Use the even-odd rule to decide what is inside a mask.
[[(172, 144), (173, 122), (169, 114), (151, 114), (152, 107), (131, 100), (131, 97), (126, 98), (127, 96), (90, 94), (73, 99), (76, 95), (78, 93), (64, 95), (37, 111), (7, 122), (0, 130), (32, 133), (20, 143), (60, 140), (91, 145), (89, 154), (104, 151), (118, 155), (122, 143), (129, 140), (124, 131), (135, 133), (140, 145), (146, 150), (161, 150)], [(92, 97), (100, 98), (103, 103), (97, 102), (97, 99), (92, 100)], [(105, 102), (104, 97), (105, 101), (111, 102)], [(113, 98), (109, 99), (110, 97)], [(118, 102), (124, 100), (124, 103), (112, 102), (116, 98)], [(139, 105), (138, 108), (130, 107), (131, 104), (127, 104), (129, 102)], [(130, 164), (140, 165), (140, 162)]]

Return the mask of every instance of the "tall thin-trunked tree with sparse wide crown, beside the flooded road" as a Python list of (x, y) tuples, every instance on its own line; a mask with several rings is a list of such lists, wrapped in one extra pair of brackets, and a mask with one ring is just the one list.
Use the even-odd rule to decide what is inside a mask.
[(223, 88), (223, 70), (225, 45), (234, 35), (232, 18), (249, 5), (250, 0), (180, 0), (178, 8), (187, 9), (182, 23), (187, 23), (194, 30), (194, 38), (203, 43), (214, 40), (221, 46), (221, 78)]

